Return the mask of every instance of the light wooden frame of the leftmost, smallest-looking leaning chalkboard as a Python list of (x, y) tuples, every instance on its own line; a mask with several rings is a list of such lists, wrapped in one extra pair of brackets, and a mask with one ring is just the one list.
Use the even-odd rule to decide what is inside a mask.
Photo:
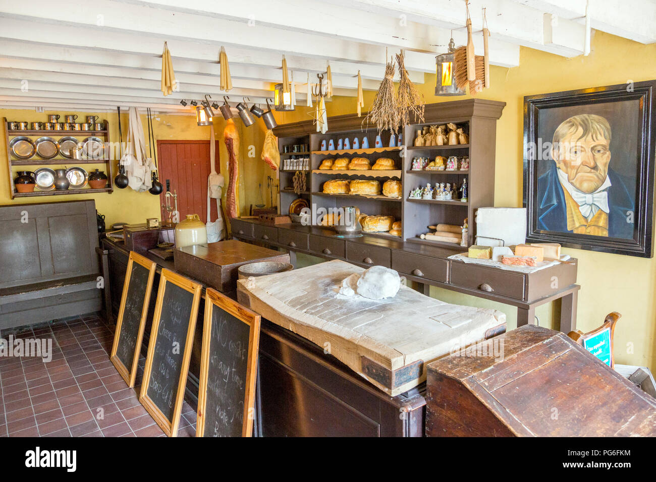
[[(116, 355), (116, 351), (119, 347), (119, 336), (121, 335), (121, 325), (123, 324), (123, 315), (125, 314), (125, 302), (127, 300), (128, 288), (130, 286), (130, 278), (132, 275), (133, 264), (140, 264), (148, 273), (148, 284), (146, 285), (146, 293), (144, 294), (144, 306), (141, 311), (141, 320), (139, 322), (139, 332), (136, 337), (136, 346), (134, 348), (134, 359), (132, 361), (131, 367), (126, 367), (123, 365), (123, 362)], [(138, 367), (139, 354), (141, 353), (141, 343), (144, 338), (144, 328), (146, 327), (146, 317), (148, 316), (148, 306), (150, 306), (150, 292), (153, 287), (153, 280), (155, 279), (155, 270), (157, 269), (157, 263), (144, 258), (141, 254), (138, 254), (134, 251), (130, 251), (130, 256), (127, 260), (127, 270), (125, 271), (125, 281), (123, 282), (123, 294), (121, 295), (121, 307), (119, 308), (119, 314), (116, 319), (116, 331), (114, 332), (114, 342), (112, 344), (112, 353), (110, 355), (110, 360), (116, 367), (116, 370), (121, 375), (121, 378), (125, 380), (129, 388), (134, 387), (134, 380), (136, 378), (136, 370)], [(107, 282), (107, 281), (106, 281)]]

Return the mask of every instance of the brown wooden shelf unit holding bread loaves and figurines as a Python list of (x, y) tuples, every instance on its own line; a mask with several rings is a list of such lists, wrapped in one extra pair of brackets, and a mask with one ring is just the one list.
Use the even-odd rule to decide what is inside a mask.
[[(379, 214), (394, 216), (396, 220), (402, 221), (401, 237), (392, 237), (385, 233), (379, 233), (381, 237), (392, 237), (400, 241), (411, 241), (424, 245), (438, 247), (459, 247), (455, 243), (441, 243), (420, 239), (419, 235), (428, 232), (428, 226), (440, 223), (462, 225), (464, 218), (468, 218), (469, 231), (467, 244), (472, 245), (476, 237), (475, 212), (479, 207), (494, 206), (494, 172), (495, 172), (495, 143), (497, 132), (497, 119), (501, 117), (504, 102), (483, 99), (455, 100), (452, 102), (438, 102), (426, 104), (425, 120), (417, 123), (411, 119), (401, 131), (403, 134), (403, 146), (401, 148), (369, 148), (350, 150), (321, 151), (321, 141), (333, 139), (335, 143), (340, 138), (348, 138), (351, 142), (354, 138), (367, 136), (369, 145), (375, 142), (378, 134), (375, 127), (363, 129), (362, 119), (355, 114), (338, 115), (329, 117), (328, 125), (331, 131), (321, 134), (316, 132), (312, 121), (302, 121), (281, 125), (274, 129), (274, 134), (279, 139), (279, 148), (285, 144), (309, 144), (310, 172), (308, 176), (308, 190), (310, 193), (302, 193), (310, 203), (316, 207), (338, 208), (347, 203), (357, 205), (360, 212), (365, 214)], [(454, 146), (413, 146), (417, 130), (427, 125), (443, 125), (453, 122), (466, 128), (470, 136), (469, 144), (457, 144)], [(390, 133), (381, 132), (383, 146), (389, 145)], [(302, 153), (287, 153), (289, 155), (302, 155)], [(431, 157), (436, 155), (456, 155), (458, 157), (468, 156), (470, 158), (470, 169), (465, 171), (413, 171), (411, 163), (413, 157)], [(396, 169), (389, 171), (333, 171), (318, 169), (321, 161), (327, 157), (367, 157), (371, 165), (379, 157), (389, 157), (397, 163)], [(281, 188), (285, 187), (285, 176), (288, 176), (287, 185), (291, 185), (291, 171), (286, 173), (280, 171)], [(397, 178), (401, 180), (403, 195), (401, 199), (379, 196), (363, 196), (348, 194), (323, 193), (322, 185), (329, 178), (342, 176), (349, 179), (357, 178)], [(440, 201), (436, 199), (409, 199), (409, 193), (426, 183), (434, 185), (436, 182), (455, 182), (461, 186), (462, 180), (467, 180), (468, 201), (460, 200)], [(287, 191), (287, 194), (293, 194)], [(288, 214), (289, 204), (297, 195), (285, 195), (285, 199), (279, 202), (279, 213)], [(347, 201), (348, 200), (348, 201)], [(392, 201), (392, 202), (390, 202)], [(464, 249), (464, 248), (463, 248)]]

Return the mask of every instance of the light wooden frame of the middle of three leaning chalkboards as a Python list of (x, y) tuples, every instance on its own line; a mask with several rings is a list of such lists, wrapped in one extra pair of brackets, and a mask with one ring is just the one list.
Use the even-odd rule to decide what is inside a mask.
[[(148, 396), (148, 384), (153, 367), (153, 357), (155, 355), (155, 342), (157, 341), (157, 329), (161, 319), (162, 304), (167, 283), (172, 283), (179, 288), (184, 289), (194, 295), (192, 300), (192, 313), (189, 317), (189, 327), (187, 329), (186, 341), (184, 344), (184, 353), (182, 354), (182, 367), (180, 368), (180, 380), (178, 390), (175, 395), (175, 404), (173, 407), (173, 420), (166, 418), (165, 414), (155, 405), (154, 401)], [(196, 317), (198, 315), (198, 305), (201, 298), (202, 285), (180, 276), (171, 270), (163, 269), (159, 277), (159, 288), (157, 289), (157, 302), (155, 304), (155, 313), (153, 315), (153, 325), (150, 331), (150, 342), (148, 343), (148, 355), (146, 355), (146, 367), (144, 367), (144, 378), (141, 384), (141, 393), (139, 401), (144, 409), (150, 413), (157, 422), (157, 425), (169, 437), (178, 435), (178, 424), (180, 423), (180, 412), (182, 412), (182, 399), (184, 398), (184, 388), (187, 384), (187, 373), (189, 371), (189, 361), (192, 356), (194, 346), (194, 329), (196, 326)]]

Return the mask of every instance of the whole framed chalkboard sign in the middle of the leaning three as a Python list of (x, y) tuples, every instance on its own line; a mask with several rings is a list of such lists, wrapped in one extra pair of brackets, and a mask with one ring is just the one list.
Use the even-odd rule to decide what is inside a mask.
[(162, 270), (139, 401), (162, 430), (178, 433), (201, 285)]

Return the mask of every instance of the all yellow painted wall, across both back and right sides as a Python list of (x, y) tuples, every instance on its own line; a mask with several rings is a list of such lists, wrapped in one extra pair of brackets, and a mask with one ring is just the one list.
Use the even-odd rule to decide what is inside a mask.
[[(491, 88), (484, 90), (479, 97), (506, 102), (503, 115), (497, 124), (497, 169), (495, 176), (495, 204), (497, 206), (518, 207), (522, 205), (522, 136), (523, 136), (523, 96), (558, 92), (560, 90), (583, 89), (600, 85), (613, 85), (626, 81), (656, 79), (656, 45), (638, 43), (614, 37), (606, 33), (594, 32), (592, 53), (588, 57), (562, 58), (537, 50), (522, 48), (520, 67), (506, 69), (491, 68)], [(425, 83), (418, 85), (427, 103), (447, 102), (453, 98), (434, 96), (435, 76), (426, 75)], [(365, 110), (371, 106), (374, 92), (365, 92)], [(468, 98), (462, 96), (459, 98)], [(340, 115), (356, 111), (354, 98), (333, 98), (327, 102), (328, 115)], [(308, 108), (298, 107), (295, 112), (276, 113), (279, 124), (310, 119)], [(9, 120), (44, 120), (47, 113), (34, 111), (2, 110)], [(63, 112), (60, 112), (63, 114)], [(80, 115), (87, 113), (79, 113)], [(112, 139), (118, 136), (115, 114), (99, 114), (110, 121)], [(269, 205), (266, 190), (266, 176), (270, 169), (260, 160), (264, 127), (262, 121), (249, 128), (237, 119), (241, 134), (240, 161), (240, 205), (241, 213), (247, 214), (247, 207), (256, 203), (257, 185), (262, 182), (264, 201)], [(217, 121), (216, 136), (222, 138), (223, 121)], [(127, 129), (127, 116), (123, 119)], [(146, 124), (144, 122), (144, 127)], [(195, 117), (161, 116), (154, 121), (157, 139), (197, 139), (209, 138), (209, 128), (197, 127)], [(4, 132), (2, 132), (4, 135)], [(125, 131), (124, 131), (125, 135)], [(248, 157), (249, 146), (254, 146), (255, 157)], [(0, 153), (5, 158), (6, 153)], [(226, 151), (223, 142), (220, 148), (221, 171), (227, 177)], [(0, 159), (0, 203), (10, 203), (6, 159)], [(475, 162), (475, 161), (474, 161)], [(275, 176), (274, 176), (275, 177)], [(46, 198), (59, 201), (81, 199), (83, 196), (57, 196)], [(53, 199), (54, 198), (54, 199)], [(146, 217), (158, 216), (158, 199), (148, 193), (116, 190), (112, 195), (92, 196), (98, 211), (106, 214), (108, 223), (115, 221), (142, 222)], [(44, 198), (30, 199), (31, 202)], [(19, 201), (16, 199), (15, 201)], [(20, 202), (28, 202), (20, 199)], [(136, 209), (138, 208), (138, 209)], [(597, 327), (610, 311), (619, 311), (623, 317), (615, 334), (615, 357), (617, 363), (654, 366), (656, 357), (656, 262), (632, 256), (619, 256), (592, 251), (565, 249), (565, 253), (579, 258), (578, 327), (583, 331)], [(306, 260), (305, 262), (312, 262)], [(508, 315), (508, 328), (516, 326), (514, 308), (488, 302), (481, 298), (465, 296), (455, 292), (433, 289), (432, 296), (441, 300), (496, 308)], [(558, 308), (548, 304), (537, 310), (541, 325), (558, 327), (554, 322)]]

